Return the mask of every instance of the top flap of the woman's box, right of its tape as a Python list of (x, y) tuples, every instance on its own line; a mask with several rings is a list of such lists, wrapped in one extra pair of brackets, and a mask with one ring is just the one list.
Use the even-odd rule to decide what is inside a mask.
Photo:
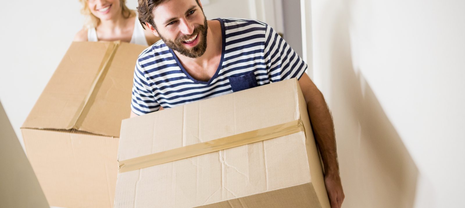
[(145, 46), (121, 43), (95, 98), (81, 114), (78, 130), (106, 136), (120, 136), (121, 120), (129, 118), (134, 66)]

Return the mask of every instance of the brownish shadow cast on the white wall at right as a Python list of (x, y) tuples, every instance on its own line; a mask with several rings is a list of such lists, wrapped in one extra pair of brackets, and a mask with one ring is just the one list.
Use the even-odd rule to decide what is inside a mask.
[(324, 32), (314, 30), (328, 34), (319, 43), (325, 58), (318, 61), (319, 70), (325, 70), (320, 79), (334, 119), (343, 207), (412, 208), (419, 170), (372, 88), (353, 67), (344, 10), (324, 14), (329, 25), (315, 28)]

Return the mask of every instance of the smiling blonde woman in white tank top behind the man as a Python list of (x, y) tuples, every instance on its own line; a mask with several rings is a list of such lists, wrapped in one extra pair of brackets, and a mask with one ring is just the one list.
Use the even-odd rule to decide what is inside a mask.
[(84, 28), (74, 41), (121, 40), (139, 45), (152, 45), (159, 40), (150, 30), (144, 30), (126, 0), (80, 0), (81, 13), (87, 16)]

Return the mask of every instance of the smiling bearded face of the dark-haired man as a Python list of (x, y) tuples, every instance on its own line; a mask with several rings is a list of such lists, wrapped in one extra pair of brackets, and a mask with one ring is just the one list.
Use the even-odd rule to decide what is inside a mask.
[(207, 21), (195, 0), (168, 0), (154, 11), (155, 32), (166, 46), (190, 58), (205, 53)]

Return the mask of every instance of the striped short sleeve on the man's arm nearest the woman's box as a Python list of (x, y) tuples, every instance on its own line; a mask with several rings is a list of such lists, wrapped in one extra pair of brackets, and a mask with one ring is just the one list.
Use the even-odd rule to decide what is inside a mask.
[(139, 63), (136, 63), (131, 102), (131, 110), (138, 115), (148, 114), (160, 109), (159, 103), (153, 96), (152, 87), (140, 68)]

